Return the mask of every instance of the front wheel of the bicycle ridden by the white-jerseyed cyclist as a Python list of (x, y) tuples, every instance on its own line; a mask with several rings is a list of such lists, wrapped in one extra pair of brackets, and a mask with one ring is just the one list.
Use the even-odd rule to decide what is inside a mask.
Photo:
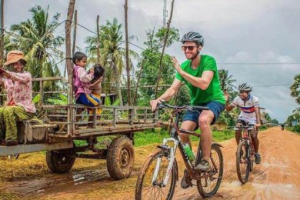
[(248, 148), (246, 141), (241, 141), (236, 151), (236, 173), (241, 184), (245, 184), (249, 179), (251, 161), (247, 155)]

